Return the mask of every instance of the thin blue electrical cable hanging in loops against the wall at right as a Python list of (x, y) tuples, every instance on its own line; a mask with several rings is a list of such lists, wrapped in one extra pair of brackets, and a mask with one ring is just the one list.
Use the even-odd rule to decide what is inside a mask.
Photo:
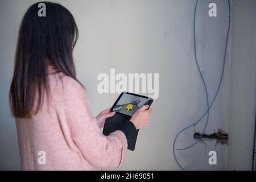
[[(177, 161), (177, 158), (176, 158), (176, 154), (175, 154), (175, 150), (186, 150), (188, 148), (191, 148), (193, 146), (195, 146), (195, 144), (197, 142), (199, 142), (199, 140), (201, 139), (202, 135), (204, 134), (204, 131), (205, 129), (207, 128), (207, 125), (208, 125), (208, 119), (209, 119), (209, 110), (210, 110), (210, 107), (212, 107), (216, 97), (217, 97), (217, 94), (220, 90), (220, 86), (221, 86), (221, 82), (222, 82), (222, 79), (223, 79), (223, 74), (224, 74), (224, 68), (225, 68), (225, 62), (226, 62), (226, 49), (228, 47), (228, 37), (229, 37), (229, 30), (230, 30), (230, 1), (228, 0), (228, 7), (229, 7), (229, 23), (228, 23), (228, 32), (226, 34), (226, 42), (225, 42), (225, 51), (224, 51), (224, 59), (223, 59), (223, 66), (222, 66), (222, 72), (221, 72), (221, 78), (220, 78), (220, 82), (218, 84), (218, 89), (216, 91), (216, 94), (214, 95), (214, 98), (213, 98), (213, 101), (212, 103), (209, 105), (209, 100), (208, 100), (208, 92), (207, 92), (207, 86), (205, 85), (205, 81), (204, 81), (204, 77), (203, 77), (203, 74), (201, 72), (201, 69), (199, 67), (199, 64), (198, 64), (198, 61), (197, 61), (197, 56), (196, 56), (196, 32), (195, 32), (195, 22), (196, 22), (196, 7), (197, 7), (197, 2), (198, 0), (196, 0), (196, 5), (195, 5), (195, 10), (194, 10), (194, 19), (193, 19), (193, 37), (194, 37), (194, 54), (195, 54), (195, 60), (196, 60), (196, 65), (197, 65), (197, 68), (199, 69), (199, 73), (200, 73), (200, 76), (201, 76), (201, 80), (203, 81), (203, 84), (204, 84), (204, 88), (205, 88), (205, 94), (206, 94), (206, 97), (207, 97), (207, 111), (205, 111), (205, 113), (202, 115), (202, 117), (200, 119), (198, 119), (195, 123), (193, 123), (192, 125), (189, 125), (187, 127), (185, 127), (184, 129), (180, 130), (180, 132), (176, 135), (175, 139), (174, 139), (174, 145), (173, 145), (173, 152), (174, 152), (174, 158), (175, 158), (175, 161), (176, 163), (178, 164), (178, 166), (184, 170), (183, 167), (181, 167), (180, 163)], [(184, 148), (175, 148), (175, 144), (176, 144), (176, 139), (177, 137), (179, 137), (179, 135), (184, 131), (184, 130), (187, 130), (189, 127), (192, 127), (192, 126), (195, 126), (199, 121), (201, 121), (202, 118), (204, 118), (205, 114), (207, 114), (207, 122), (205, 123), (205, 127), (204, 127), (204, 130), (203, 132), (201, 132), (200, 134), (200, 137), (196, 140), (195, 143), (191, 144), (190, 146), (188, 147), (184, 147)]]

